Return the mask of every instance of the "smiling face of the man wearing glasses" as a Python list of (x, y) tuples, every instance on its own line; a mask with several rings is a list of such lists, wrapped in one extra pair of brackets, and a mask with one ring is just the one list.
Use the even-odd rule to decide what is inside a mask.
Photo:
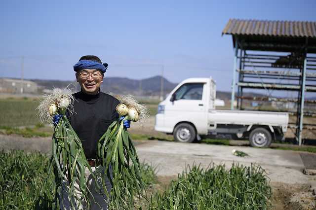
[(99, 70), (80, 70), (76, 73), (76, 78), (82, 91), (90, 95), (97, 94), (103, 82), (103, 74)]

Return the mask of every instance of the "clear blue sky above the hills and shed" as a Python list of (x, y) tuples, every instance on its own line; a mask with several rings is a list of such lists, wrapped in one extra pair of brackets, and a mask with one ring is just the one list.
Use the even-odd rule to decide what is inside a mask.
[(315, 0), (3, 1), (0, 77), (75, 79), (82, 55), (109, 64), (106, 76), (171, 82), (212, 76), (230, 90), (230, 18), (316, 21)]

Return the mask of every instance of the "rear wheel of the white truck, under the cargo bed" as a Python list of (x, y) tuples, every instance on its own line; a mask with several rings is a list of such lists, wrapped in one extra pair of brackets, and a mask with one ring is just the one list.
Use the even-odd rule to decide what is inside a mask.
[(249, 135), (249, 142), (253, 147), (269, 147), (271, 140), (271, 134), (265, 128), (256, 128)]

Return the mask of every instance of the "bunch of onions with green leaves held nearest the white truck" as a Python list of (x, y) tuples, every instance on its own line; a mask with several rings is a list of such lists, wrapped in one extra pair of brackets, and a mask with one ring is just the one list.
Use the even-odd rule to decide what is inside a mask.
[[(134, 190), (140, 196), (144, 190), (141, 177), (140, 163), (135, 146), (127, 129), (123, 126), (124, 120), (137, 122), (148, 117), (148, 108), (138, 104), (132, 96), (119, 97), (120, 104), (116, 110), (121, 120), (114, 121), (106, 133), (98, 141), (98, 159), (102, 160), (102, 168), (107, 169), (107, 176), (111, 180), (112, 204), (116, 207), (129, 209), (133, 204)], [(109, 167), (113, 170), (111, 178)], [(105, 188), (103, 181), (103, 188)], [(121, 187), (124, 186), (124, 187)], [(107, 191), (105, 190), (107, 193)], [(113, 203), (114, 202), (114, 203)]]

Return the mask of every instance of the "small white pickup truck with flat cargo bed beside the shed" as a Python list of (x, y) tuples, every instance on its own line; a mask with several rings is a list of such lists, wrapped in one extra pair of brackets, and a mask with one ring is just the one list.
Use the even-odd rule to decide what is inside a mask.
[(155, 130), (173, 134), (180, 142), (231, 135), (249, 139), (256, 147), (284, 138), (287, 112), (217, 110), (215, 99), (216, 83), (211, 77), (182, 81), (159, 103)]

